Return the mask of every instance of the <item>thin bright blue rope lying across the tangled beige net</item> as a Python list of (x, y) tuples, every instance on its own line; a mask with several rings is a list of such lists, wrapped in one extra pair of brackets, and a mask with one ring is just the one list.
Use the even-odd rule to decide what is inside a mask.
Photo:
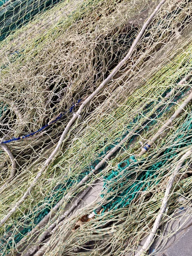
[[(73, 104), (73, 105), (71, 106), (70, 110), (68, 110), (69, 113), (71, 113), (71, 112), (73, 111), (73, 108), (74, 108), (77, 104), (79, 104), (80, 101), (81, 101), (81, 99), (79, 99), (76, 104)], [(50, 123), (47, 124), (47, 125), (44, 125), (44, 126), (41, 127), (40, 129), (38, 129), (38, 131), (32, 132), (32, 133), (27, 134), (27, 135), (23, 135), (23, 136), (17, 137), (17, 138), (14, 138), (14, 137), (13, 137), (13, 138), (10, 139), (10, 140), (4, 140), (4, 141), (2, 141), (0, 144), (6, 144), (6, 143), (9, 143), (9, 142), (12, 142), (12, 141), (15, 141), (15, 140), (21, 140), (21, 139), (25, 139), (25, 138), (27, 138), (27, 137), (33, 136), (34, 134), (36, 134), (36, 133), (38, 133), (38, 132), (44, 130), (45, 128), (47, 128), (47, 126), (52, 125), (53, 123), (57, 122), (59, 119), (61, 119), (61, 117), (63, 117), (64, 115), (66, 115), (66, 113), (67, 113), (68, 111), (66, 111), (66, 112), (63, 113), (63, 114), (61, 113), (57, 118), (55, 118), (55, 120), (53, 120), (52, 122), (50, 122)]]

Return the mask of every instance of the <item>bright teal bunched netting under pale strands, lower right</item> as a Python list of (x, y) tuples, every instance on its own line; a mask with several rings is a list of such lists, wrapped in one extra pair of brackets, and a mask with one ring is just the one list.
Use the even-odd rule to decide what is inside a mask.
[[(170, 106), (166, 108), (165, 111), (168, 111), (169, 109)], [(161, 115), (162, 114), (163, 113), (161, 112)], [(157, 121), (152, 120), (150, 123), (148, 123), (148, 128), (155, 122)], [(143, 163), (145, 163), (146, 161), (150, 162), (150, 159), (142, 159), (137, 162), (135, 158), (129, 157), (127, 160), (124, 160), (118, 164), (117, 170), (112, 170), (108, 176), (105, 176), (105, 194), (110, 193), (114, 189), (117, 189), (119, 193), (116, 196), (108, 198), (110, 202), (103, 206), (104, 209), (111, 210), (126, 207), (131, 203), (134, 198), (139, 195), (139, 192), (145, 191), (150, 186), (154, 185), (154, 181), (151, 181), (151, 179), (156, 179), (156, 184), (159, 182), (158, 176), (163, 175), (163, 173), (159, 173), (158, 170), (163, 168), (165, 164), (174, 161), (175, 156), (179, 154), (178, 149), (191, 145), (192, 143), (191, 113), (186, 117), (186, 121), (180, 128), (177, 129), (175, 134), (179, 135), (176, 135), (173, 146), (167, 148), (163, 153), (161, 153), (160, 160), (158, 160), (157, 163), (154, 163), (152, 166), (147, 167), (144, 171), (137, 175), (137, 178), (134, 177), (134, 174), (130, 174), (131, 169), (135, 169), (135, 166), (137, 166), (138, 169), (142, 168)], [(178, 140), (179, 143), (177, 143)], [(135, 162), (137, 162), (137, 164)], [(132, 184), (128, 188), (123, 189), (125, 185), (127, 186), (130, 180), (134, 180), (134, 183), (131, 182)]]

